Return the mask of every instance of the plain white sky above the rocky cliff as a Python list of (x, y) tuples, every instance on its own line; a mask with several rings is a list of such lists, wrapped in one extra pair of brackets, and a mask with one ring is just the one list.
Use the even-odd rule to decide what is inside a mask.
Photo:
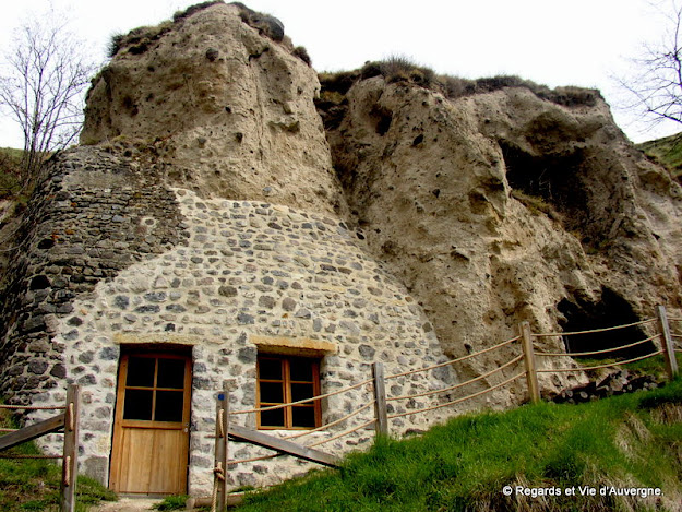
[[(670, 123), (651, 129), (615, 108), (613, 75), (642, 44), (658, 44), (673, 0), (246, 0), (277, 16), (295, 45), (306, 46), (318, 71), (350, 70), (367, 60), (404, 55), (436, 73), (469, 79), (517, 74), (551, 87), (601, 90), (618, 124), (642, 142), (675, 133)], [(12, 28), (49, 5), (64, 11), (71, 28), (105, 60), (115, 33), (170, 19), (198, 0), (3, 0), (0, 51)], [(20, 147), (19, 128), (0, 115), (0, 146)]]

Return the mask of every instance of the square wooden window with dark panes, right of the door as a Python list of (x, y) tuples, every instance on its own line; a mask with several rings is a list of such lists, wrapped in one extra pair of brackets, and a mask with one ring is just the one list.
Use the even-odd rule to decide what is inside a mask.
[[(310, 357), (259, 355), (259, 407), (298, 402), (320, 394), (320, 361)], [(320, 401), (258, 415), (260, 429), (311, 429), (322, 425)]]

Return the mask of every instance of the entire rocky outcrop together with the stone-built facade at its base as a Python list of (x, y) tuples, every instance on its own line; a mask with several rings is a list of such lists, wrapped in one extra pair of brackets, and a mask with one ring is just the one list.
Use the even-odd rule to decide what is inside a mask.
[[(635, 322), (661, 302), (681, 312), (682, 190), (597, 91), (439, 78), (399, 60), (321, 83), (276, 19), (239, 3), (137, 28), (112, 53), (82, 145), (52, 160), (11, 242), (0, 332), (12, 400), (60, 404), (64, 380), (84, 386), (85, 468), (103, 481), (131, 347), (191, 352), (189, 480), (204, 489), (206, 404), (227, 386), (237, 408), (254, 405), (263, 344), (316, 347), (327, 390), (362, 381), (374, 360), (397, 373), (491, 346), (521, 321), (574, 331)], [(567, 350), (623, 341), (548, 340)], [(524, 397), (515, 384), (486, 400)], [(368, 400), (330, 401), (325, 417)], [(259, 483), (286, 474), (258, 466), (235, 484), (254, 472)]]

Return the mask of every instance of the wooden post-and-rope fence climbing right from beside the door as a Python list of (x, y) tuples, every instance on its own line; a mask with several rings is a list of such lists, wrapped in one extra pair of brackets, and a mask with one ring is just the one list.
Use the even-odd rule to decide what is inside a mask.
[[(493, 346), (484, 348), (482, 350), (467, 354), (465, 356), (458, 357), (453, 360), (448, 360), (446, 362), (441, 362), (438, 365), (428, 366), (424, 368), (419, 368), (415, 370), (408, 370), (400, 373), (395, 374), (384, 374), (383, 364), (374, 362), (372, 365), (372, 378), (360, 381), (352, 385), (333, 391), (331, 393), (325, 393), (319, 396), (314, 396), (311, 398), (300, 400), (297, 402), (279, 404), (267, 407), (253, 407), (248, 409), (240, 410), (229, 410), (229, 393), (227, 391), (220, 392), (217, 400), (216, 406), (216, 450), (215, 450), (215, 486), (214, 486), (214, 496), (212, 500), (213, 510), (224, 510), (225, 503), (227, 500), (227, 487), (226, 487), (226, 472), (238, 464), (250, 463), (255, 461), (263, 461), (274, 457), (279, 457), (283, 455), (294, 455), (300, 459), (304, 459), (307, 461), (316, 462), (320, 464), (324, 464), (327, 466), (335, 466), (338, 460), (331, 454), (319, 451), (316, 448), (328, 443), (333, 440), (349, 436), (358, 430), (367, 429), (369, 427), (374, 427), (374, 431), (378, 436), (388, 436), (390, 434), (390, 425), (392, 420), (395, 420), (405, 416), (420, 415), (431, 410), (448, 407), (452, 405), (460, 404), (466, 401), (470, 401), (482, 396), (487, 393), (491, 393), (495, 390), (502, 389), (506, 385), (512, 384), (518, 380), (523, 380), (525, 377), (526, 386), (528, 390), (528, 397), (531, 402), (539, 402), (541, 400), (541, 389), (538, 380), (538, 373), (551, 373), (551, 372), (582, 372), (586, 370), (594, 370), (600, 368), (611, 368), (618, 367), (621, 365), (626, 365), (629, 362), (638, 361), (642, 359), (647, 359), (657, 355), (663, 355), (666, 361), (666, 370), (667, 374), (670, 379), (673, 379), (678, 373), (678, 364), (675, 359), (675, 353), (681, 353), (682, 349), (675, 349), (673, 345), (674, 340), (682, 340), (682, 334), (675, 334), (675, 330), (670, 329), (670, 322), (679, 322), (680, 331), (682, 331), (682, 318), (668, 318), (666, 314), (666, 309), (662, 306), (658, 307), (658, 315), (657, 318), (643, 320), (635, 323), (629, 323), (624, 325), (618, 325), (612, 328), (602, 328), (595, 329), (590, 331), (581, 331), (581, 332), (562, 332), (562, 333), (533, 333), (530, 330), (530, 325), (528, 322), (523, 322), (518, 326), (519, 334), (515, 337), (506, 340), (504, 342), (498, 343)], [(541, 337), (551, 337), (551, 336), (574, 336), (578, 334), (594, 334), (600, 332), (611, 332), (635, 326), (646, 326), (654, 325), (658, 332), (651, 336), (648, 336), (644, 340), (627, 343), (624, 345), (610, 347), (601, 350), (593, 350), (593, 352), (582, 352), (582, 353), (550, 353), (550, 352), (538, 352), (535, 347), (536, 341)], [(646, 354), (644, 356), (634, 357), (626, 360), (619, 360), (613, 362), (608, 362), (603, 365), (596, 365), (591, 367), (566, 367), (566, 368), (546, 368), (543, 364), (538, 364), (538, 358), (550, 358), (550, 357), (574, 357), (574, 356), (603, 356), (608, 353), (613, 353), (615, 350), (621, 350), (624, 348), (631, 348), (638, 345), (644, 345), (646, 343), (651, 343), (654, 341), (660, 342), (660, 348), (651, 352), (650, 354)], [(517, 347), (514, 350), (514, 347)], [(496, 368), (493, 368), (490, 371), (487, 371), (474, 379), (467, 380), (465, 382), (458, 382), (453, 385), (448, 385), (445, 388), (423, 391), (420, 393), (412, 393), (406, 395), (396, 395), (390, 396), (386, 394), (386, 384), (392, 380), (399, 379), (408, 379), (412, 378), (412, 376), (418, 373), (424, 373), (429, 371), (433, 371), (443, 367), (454, 366), (460, 364), (465, 360), (472, 359), (476, 357), (480, 357), (488, 353), (493, 353), (495, 350), (500, 350), (503, 348), (507, 348), (507, 353), (510, 348), (514, 352), (517, 352), (516, 356), (512, 356), (506, 362), (499, 365)], [(496, 382), (495, 382), (496, 381)], [(490, 383), (494, 382), (494, 383)], [(447, 393), (455, 390), (462, 390), (467, 385), (477, 384), (479, 388), (483, 384), (486, 388), (482, 390), (470, 391), (467, 394), (459, 396), (454, 400), (446, 400), (445, 402), (439, 402), (434, 405), (430, 405), (427, 407), (420, 408), (407, 408), (396, 409), (393, 407), (393, 412), (390, 413), (390, 404), (399, 403), (400, 401), (415, 401), (416, 398), (422, 398), (426, 396), (434, 396), (439, 394)], [(298, 405), (303, 403), (311, 403), (315, 401), (321, 401), (328, 398), (334, 395), (338, 395), (342, 393), (346, 393), (351, 390), (357, 390), (359, 388), (367, 386), (368, 389), (371, 386), (371, 395), (373, 400), (368, 402), (364, 405), (357, 407), (355, 410), (346, 414), (345, 416), (331, 421), (322, 427), (318, 427), (310, 430), (298, 431), (296, 433), (291, 433), (284, 437), (275, 438), (274, 436), (268, 436), (263, 431), (254, 431), (246, 429), (244, 427), (239, 427), (234, 424), (230, 418), (236, 418), (240, 415), (249, 415), (249, 414), (259, 414), (261, 412), (266, 410), (275, 410), (284, 407), (288, 407), (291, 405)], [(297, 444), (291, 442), (292, 440), (298, 440), (309, 436), (313, 432), (320, 431), (328, 431), (333, 428), (342, 424), (348, 424), (354, 421), (354, 418), (366, 413), (368, 410), (372, 410), (373, 415), (371, 419), (355, 419), (355, 425), (351, 425), (340, 432), (333, 433), (331, 437), (308, 443), (308, 444)], [(366, 413), (367, 414), (367, 413)], [(276, 453), (270, 455), (261, 455), (249, 459), (240, 459), (240, 460), (229, 460), (228, 457), (228, 439), (239, 440), (239, 441), (248, 441), (260, 446), (267, 448), (270, 450), (275, 451)]]

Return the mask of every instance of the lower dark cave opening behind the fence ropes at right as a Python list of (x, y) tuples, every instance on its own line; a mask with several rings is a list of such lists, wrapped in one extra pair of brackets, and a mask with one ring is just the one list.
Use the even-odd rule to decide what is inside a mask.
[[(559, 311), (565, 317), (560, 322), (564, 332), (591, 331), (595, 329), (612, 328), (639, 321), (630, 303), (615, 291), (603, 287), (601, 300), (591, 302), (584, 299), (571, 301), (563, 299), (558, 305)], [(575, 334), (563, 336), (566, 353), (583, 353), (606, 350), (622, 345), (627, 345), (648, 337), (639, 326), (624, 328), (614, 331), (597, 333)], [(613, 359), (645, 356), (656, 352), (653, 342), (643, 343), (630, 348), (613, 350), (606, 354), (589, 356), (590, 359)]]

